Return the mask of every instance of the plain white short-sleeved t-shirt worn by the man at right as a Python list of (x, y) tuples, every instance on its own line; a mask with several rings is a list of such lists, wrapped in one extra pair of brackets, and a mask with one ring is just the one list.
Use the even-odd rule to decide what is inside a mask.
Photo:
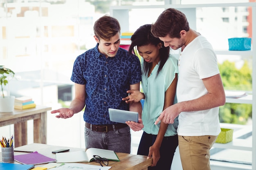
[[(177, 102), (197, 99), (207, 94), (202, 79), (217, 75), (216, 53), (202, 35), (190, 42), (180, 51), (179, 78), (177, 83)], [(179, 115), (178, 135), (202, 136), (220, 133), (219, 107)]]

